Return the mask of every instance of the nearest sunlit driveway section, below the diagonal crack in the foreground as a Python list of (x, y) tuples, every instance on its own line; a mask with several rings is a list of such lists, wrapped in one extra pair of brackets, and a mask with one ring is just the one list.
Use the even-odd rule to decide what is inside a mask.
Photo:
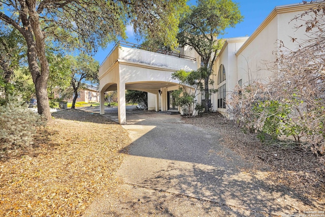
[(114, 192), (97, 198), (83, 216), (265, 216), (179, 194), (121, 184)]

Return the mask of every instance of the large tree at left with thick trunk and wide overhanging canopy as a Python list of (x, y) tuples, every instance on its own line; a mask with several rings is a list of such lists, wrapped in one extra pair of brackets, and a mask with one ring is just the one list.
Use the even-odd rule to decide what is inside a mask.
[(166, 43), (174, 43), (177, 9), (183, 4), (184, 0), (4, 0), (0, 1), (0, 28), (11, 25), (24, 37), (38, 112), (50, 119), (47, 39), (66, 49), (96, 51), (125, 38), (125, 25), (131, 22), (139, 36), (165, 32)]

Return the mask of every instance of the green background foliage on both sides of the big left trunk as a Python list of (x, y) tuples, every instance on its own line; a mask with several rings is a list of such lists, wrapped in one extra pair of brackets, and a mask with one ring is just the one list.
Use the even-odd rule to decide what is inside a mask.
[[(9, 95), (19, 95), (23, 101), (35, 95), (26, 50), (26, 42), (17, 29), (7, 27), (0, 32), (0, 89), (4, 95), (0, 104), (6, 103)], [(46, 56), (50, 68), (48, 92), (53, 95), (55, 87), (70, 85), (70, 65), (64, 52), (53, 43), (46, 44)]]

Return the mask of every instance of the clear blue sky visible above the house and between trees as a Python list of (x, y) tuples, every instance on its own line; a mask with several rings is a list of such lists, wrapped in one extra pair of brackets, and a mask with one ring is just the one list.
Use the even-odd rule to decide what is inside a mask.
[[(239, 9), (244, 19), (237, 24), (235, 28), (228, 28), (228, 34), (223, 35), (222, 38), (233, 38), (241, 36), (250, 36), (254, 30), (263, 22), (263, 20), (272, 12), (276, 6), (289, 5), (301, 3), (301, 0), (233, 0), (239, 4)], [(188, 5), (196, 4), (195, 0), (188, 2)], [(128, 39), (126, 41), (137, 43), (134, 39), (132, 27), (128, 26), (126, 29)], [(114, 44), (107, 46), (105, 50), (99, 49), (99, 52), (94, 56), (96, 60), (102, 63), (107, 54), (111, 51)]]

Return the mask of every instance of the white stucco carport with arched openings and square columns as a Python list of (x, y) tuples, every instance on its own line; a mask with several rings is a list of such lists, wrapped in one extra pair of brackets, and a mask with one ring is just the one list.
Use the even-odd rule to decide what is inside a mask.
[[(129, 46), (133, 47), (129, 47)], [(177, 55), (177, 56), (175, 56)], [(178, 89), (172, 73), (197, 70), (197, 62), (179, 54), (166, 55), (134, 47), (131, 43), (117, 44), (102, 63), (100, 79), (100, 113), (104, 114), (105, 92), (117, 90), (118, 122), (126, 123), (125, 90), (141, 90), (155, 95), (155, 110), (168, 110), (168, 91)]]

